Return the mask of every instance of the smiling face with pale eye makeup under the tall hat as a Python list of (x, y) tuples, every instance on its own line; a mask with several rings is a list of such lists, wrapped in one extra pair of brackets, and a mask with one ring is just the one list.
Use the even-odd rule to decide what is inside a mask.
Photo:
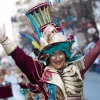
[(52, 67), (59, 70), (64, 67), (65, 60), (65, 54), (61, 51), (56, 51), (50, 56), (49, 62)]

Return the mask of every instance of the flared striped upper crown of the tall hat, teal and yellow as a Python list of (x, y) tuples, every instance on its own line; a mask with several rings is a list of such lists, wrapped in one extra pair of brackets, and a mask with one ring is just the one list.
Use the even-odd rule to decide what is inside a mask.
[[(38, 38), (41, 37), (41, 33), (48, 24), (53, 24), (51, 10), (48, 2), (41, 3), (33, 7), (28, 12), (26, 12), (26, 16), (29, 18), (34, 31), (38, 34)], [(61, 27), (57, 27), (58, 30), (60, 28)]]

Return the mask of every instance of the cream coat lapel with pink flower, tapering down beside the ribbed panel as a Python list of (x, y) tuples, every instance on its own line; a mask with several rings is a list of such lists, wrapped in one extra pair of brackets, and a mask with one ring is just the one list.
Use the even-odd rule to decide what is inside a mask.
[(52, 84), (55, 84), (56, 86), (58, 86), (62, 90), (65, 98), (67, 97), (64, 83), (63, 83), (59, 73), (57, 72), (57, 70), (54, 69), (52, 66), (47, 66), (44, 69), (42, 79), (43, 79), (43, 81), (45, 81), (47, 83), (52, 83)]

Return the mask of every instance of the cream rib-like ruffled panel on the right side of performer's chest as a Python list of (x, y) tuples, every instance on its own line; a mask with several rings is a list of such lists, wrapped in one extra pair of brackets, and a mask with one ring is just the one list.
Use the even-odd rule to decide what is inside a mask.
[(79, 69), (75, 65), (66, 66), (59, 71), (64, 82), (67, 96), (80, 96), (83, 91), (83, 81)]

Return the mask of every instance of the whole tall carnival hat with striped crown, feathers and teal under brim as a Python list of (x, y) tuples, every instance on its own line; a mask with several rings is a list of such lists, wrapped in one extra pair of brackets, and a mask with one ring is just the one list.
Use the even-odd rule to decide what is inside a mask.
[(37, 39), (22, 33), (20, 34), (30, 39), (34, 47), (40, 51), (38, 60), (43, 59), (44, 55), (52, 54), (55, 50), (64, 51), (67, 58), (70, 59), (70, 47), (74, 36), (70, 35), (66, 39), (61, 31), (62, 27), (53, 23), (49, 3), (41, 3), (27, 11), (25, 14), (30, 20), (36, 34), (34, 37), (37, 37)]

